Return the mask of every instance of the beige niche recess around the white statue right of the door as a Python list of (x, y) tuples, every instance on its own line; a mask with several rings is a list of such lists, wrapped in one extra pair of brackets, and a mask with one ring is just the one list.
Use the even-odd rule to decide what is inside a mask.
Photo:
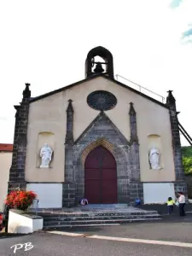
[[(160, 138), (160, 135), (158, 135), (158, 134), (148, 135), (148, 153), (149, 153), (150, 149), (153, 148), (153, 147), (157, 148), (158, 151), (160, 152), (160, 170), (162, 170), (164, 168), (164, 166), (163, 166), (163, 152), (162, 152), (162, 146), (161, 146), (161, 138)], [(153, 170), (150, 166), (149, 155), (148, 155), (148, 169)], [(157, 170), (154, 170), (154, 171), (157, 171)]]

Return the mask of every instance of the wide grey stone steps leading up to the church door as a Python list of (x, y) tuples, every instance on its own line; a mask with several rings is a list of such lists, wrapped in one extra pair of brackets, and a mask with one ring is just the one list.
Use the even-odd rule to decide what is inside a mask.
[(156, 211), (39, 212), (38, 215), (44, 217), (44, 229), (113, 225), (161, 219)]

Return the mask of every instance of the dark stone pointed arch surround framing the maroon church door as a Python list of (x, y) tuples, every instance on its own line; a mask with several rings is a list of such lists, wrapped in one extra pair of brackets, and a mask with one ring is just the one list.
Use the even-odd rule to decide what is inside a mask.
[(98, 138), (96, 141), (91, 141), (84, 145), (76, 144), (74, 147), (74, 162), (73, 162), (73, 174), (74, 181), (76, 183), (76, 201), (79, 202), (81, 198), (84, 198), (84, 162), (90, 152), (98, 147), (102, 146), (107, 148), (108, 151), (113, 154), (113, 157), (117, 165), (117, 202), (123, 203), (129, 201), (129, 183), (131, 178), (131, 157), (129, 152), (129, 146), (124, 145), (124, 148), (119, 147), (117, 144), (109, 142), (104, 137)]

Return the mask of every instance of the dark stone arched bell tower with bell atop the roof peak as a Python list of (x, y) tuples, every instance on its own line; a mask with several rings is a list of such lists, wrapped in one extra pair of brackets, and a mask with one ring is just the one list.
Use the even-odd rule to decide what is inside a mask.
[[(102, 61), (96, 61), (98, 57)], [(85, 61), (85, 78), (99, 73), (113, 79), (113, 55), (102, 46), (90, 49)]]

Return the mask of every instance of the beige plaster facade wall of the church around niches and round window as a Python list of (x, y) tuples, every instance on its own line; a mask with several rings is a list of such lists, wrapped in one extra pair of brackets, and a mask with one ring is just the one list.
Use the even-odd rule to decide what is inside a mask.
[[(129, 103), (134, 103), (137, 113), (137, 135), (140, 144), (141, 181), (145, 183), (174, 182), (175, 170), (169, 110), (101, 77), (30, 103), (26, 147), (26, 181), (40, 183), (65, 181), (64, 143), (68, 100), (73, 100), (73, 136), (76, 140), (99, 114), (99, 111), (90, 108), (87, 104), (87, 96), (95, 90), (108, 90), (117, 97), (116, 107), (106, 111), (106, 114), (128, 141), (130, 140)], [(54, 160), (49, 172), (36, 166), (38, 134), (45, 131), (52, 132), (55, 135)], [(151, 170), (148, 164), (148, 135), (151, 134), (160, 136), (161, 156), (163, 154), (162, 169), (156, 172)]]

